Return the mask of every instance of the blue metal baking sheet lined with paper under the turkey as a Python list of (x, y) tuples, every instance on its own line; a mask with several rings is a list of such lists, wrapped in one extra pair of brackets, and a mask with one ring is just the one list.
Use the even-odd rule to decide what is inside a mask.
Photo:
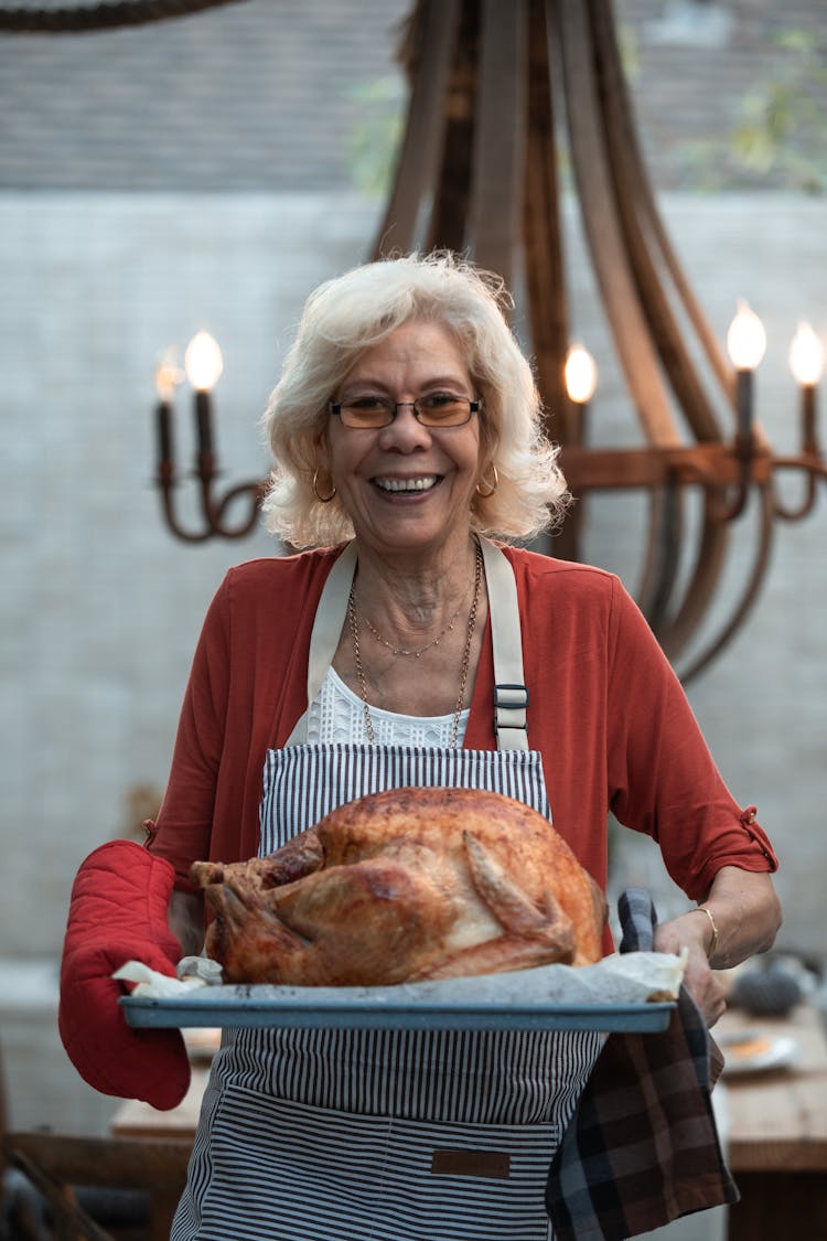
[(270, 1026), (347, 1030), (604, 1030), (657, 1033), (674, 1001), (646, 1004), (500, 1003), (388, 995), (391, 988), (205, 987), (186, 995), (124, 995), (136, 1028)]

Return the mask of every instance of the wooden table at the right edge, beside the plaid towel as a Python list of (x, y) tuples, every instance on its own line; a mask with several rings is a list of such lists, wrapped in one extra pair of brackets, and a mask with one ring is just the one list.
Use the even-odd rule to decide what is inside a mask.
[[(789, 1069), (725, 1073), (728, 1162), (741, 1200), (729, 1212), (729, 1241), (827, 1239), (827, 1036), (807, 1005), (790, 1018), (753, 1018), (733, 1009), (713, 1030), (755, 1030), (796, 1040)], [(792, 1231), (791, 1231), (792, 1230)]]

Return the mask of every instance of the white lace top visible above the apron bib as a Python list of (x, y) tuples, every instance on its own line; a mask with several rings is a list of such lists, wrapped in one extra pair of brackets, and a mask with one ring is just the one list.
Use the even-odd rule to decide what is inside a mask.
[[(377, 746), (444, 746), (450, 747), (454, 712), (450, 715), (398, 715), (369, 706), (373, 737)], [(456, 745), (462, 745), (469, 710), (460, 715)], [(316, 700), (307, 712), (307, 743), (352, 742), (366, 745), (365, 710), (361, 697), (345, 685), (331, 668), (322, 681)]]

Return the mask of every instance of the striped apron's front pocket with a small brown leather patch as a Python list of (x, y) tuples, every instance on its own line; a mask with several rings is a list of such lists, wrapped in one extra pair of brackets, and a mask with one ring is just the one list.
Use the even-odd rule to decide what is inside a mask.
[(231, 1086), (187, 1241), (547, 1241), (558, 1140), (552, 1124), (361, 1116)]

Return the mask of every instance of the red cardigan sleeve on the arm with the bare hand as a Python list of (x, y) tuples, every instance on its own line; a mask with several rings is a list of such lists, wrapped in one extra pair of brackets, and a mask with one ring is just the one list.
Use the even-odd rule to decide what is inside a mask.
[(658, 843), (693, 900), (723, 866), (777, 870), (756, 808), (740, 807), (728, 789), (679, 680), (620, 582), (608, 685), (610, 807), (619, 822)]

